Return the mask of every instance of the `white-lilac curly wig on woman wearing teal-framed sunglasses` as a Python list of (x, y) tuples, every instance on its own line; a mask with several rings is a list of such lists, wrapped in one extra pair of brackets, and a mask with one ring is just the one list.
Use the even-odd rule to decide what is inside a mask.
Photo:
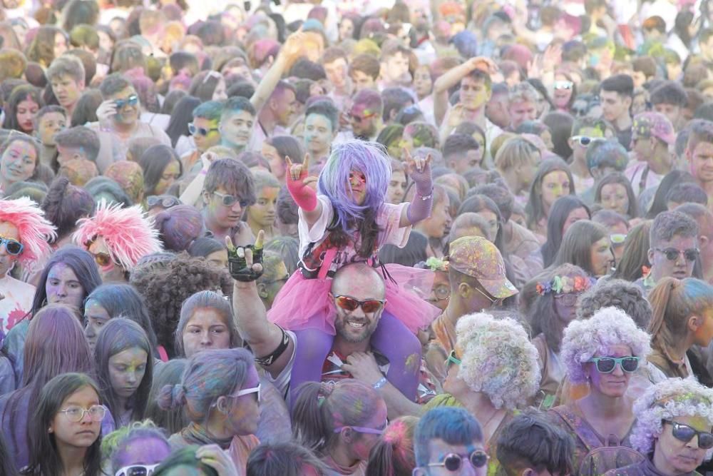
[(612, 345), (628, 345), (644, 363), (651, 353), (651, 336), (619, 308), (602, 308), (589, 319), (573, 320), (565, 328), (560, 353), (570, 380), (585, 383), (584, 364)]

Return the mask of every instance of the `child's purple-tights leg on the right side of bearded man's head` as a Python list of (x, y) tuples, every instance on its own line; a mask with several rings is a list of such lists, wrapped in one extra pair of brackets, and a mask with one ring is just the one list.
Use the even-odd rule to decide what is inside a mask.
[(381, 320), (371, 335), (371, 345), (389, 359), (386, 378), (406, 398), (416, 400), (421, 369), (421, 343), (406, 325), (394, 315), (381, 314)]

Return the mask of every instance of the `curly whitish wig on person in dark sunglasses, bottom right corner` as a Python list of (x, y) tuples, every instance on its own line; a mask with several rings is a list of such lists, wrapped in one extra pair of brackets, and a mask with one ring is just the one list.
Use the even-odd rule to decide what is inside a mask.
[(694, 378), (667, 378), (647, 388), (634, 403), (636, 425), (631, 432), (635, 450), (648, 455), (663, 432), (661, 420), (702, 417), (713, 425), (713, 389)]

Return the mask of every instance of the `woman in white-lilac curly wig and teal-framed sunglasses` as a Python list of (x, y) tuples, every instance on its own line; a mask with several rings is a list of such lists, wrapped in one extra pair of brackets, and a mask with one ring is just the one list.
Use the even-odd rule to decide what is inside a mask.
[(630, 434), (635, 420), (630, 380), (650, 353), (650, 336), (622, 310), (603, 308), (565, 328), (562, 361), (571, 383), (589, 384), (589, 395), (560, 405), (547, 415), (575, 440), (575, 474), (600, 475), (614, 469), (593, 453), (615, 446), (618, 462), (637, 462)]

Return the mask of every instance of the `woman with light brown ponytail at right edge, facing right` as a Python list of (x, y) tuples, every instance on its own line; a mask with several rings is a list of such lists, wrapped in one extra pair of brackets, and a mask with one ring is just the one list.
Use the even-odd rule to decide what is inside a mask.
[(649, 302), (649, 380), (694, 375), (689, 351), (694, 345), (706, 348), (713, 340), (713, 286), (696, 278), (663, 278), (649, 293)]

